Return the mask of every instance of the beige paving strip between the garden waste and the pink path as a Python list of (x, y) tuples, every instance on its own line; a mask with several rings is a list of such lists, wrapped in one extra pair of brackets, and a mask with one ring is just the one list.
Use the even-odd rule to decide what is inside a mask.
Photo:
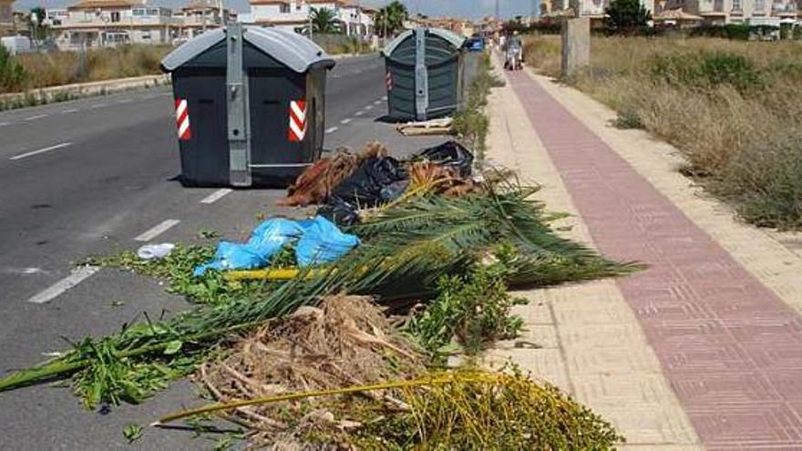
[[(539, 183), (541, 190), (534, 198), (545, 202), (548, 210), (575, 214), (560, 175), (510, 87), (493, 91), (488, 112), (488, 157), (517, 169), (521, 179)], [(571, 216), (559, 225), (571, 226), (569, 231), (560, 231), (563, 236), (592, 245), (581, 218)], [(521, 348), (515, 340), (502, 342), (485, 354), (484, 364), (499, 367), (515, 362), (577, 395), (612, 421), (632, 449), (700, 449), (693, 426), (614, 281), (516, 294), (530, 300), (529, 305), (515, 308), (530, 327), (524, 337), (542, 343), (543, 348)]]

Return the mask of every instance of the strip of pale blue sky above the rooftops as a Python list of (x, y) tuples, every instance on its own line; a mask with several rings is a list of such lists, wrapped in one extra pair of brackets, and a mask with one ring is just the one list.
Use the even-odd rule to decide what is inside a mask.
[[(424, 15), (438, 16), (450, 15), (478, 19), (486, 15), (493, 15), (496, 9), (496, 0), (402, 0), (411, 12), (420, 12)], [(539, 0), (499, 0), (499, 11), (503, 17), (515, 15), (530, 15), (537, 11)], [(149, 0), (148, 3), (157, 3), (170, 7), (185, 5), (189, 0)], [(63, 7), (77, 3), (77, 0), (17, 0), (15, 9), (30, 9), (34, 6), (46, 8)], [(239, 11), (248, 10), (248, 0), (224, 0), (227, 7)], [(388, 0), (362, 0), (364, 5), (382, 6)]]

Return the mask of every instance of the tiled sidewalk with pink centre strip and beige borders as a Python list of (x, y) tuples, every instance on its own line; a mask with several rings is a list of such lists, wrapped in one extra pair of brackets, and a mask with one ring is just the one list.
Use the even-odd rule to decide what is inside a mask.
[[(508, 118), (499, 123), (494, 118), (493, 136), (498, 141), (492, 146), (494, 152), (501, 149), (499, 135), (505, 132), (519, 136), (520, 142), (509, 138), (514, 155), (491, 152), (491, 157), (512, 160), (530, 177), (548, 177), (546, 172), (553, 167), (560, 180), (545, 182), (552, 192), (564, 187), (570, 195), (569, 205), (558, 203), (553, 208), (575, 206), (578, 223), (587, 226), (592, 242), (604, 254), (650, 265), (647, 271), (617, 282), (538, 295), (550, 297), (545, 304), (557, 331), (561, 357), (557, 361), (563, 365), (563, 375), (551, 379), (610, 416), (630, 443), (643, 449), (691, 448), (695, 434), (708, 449), (802, 449), (802, 320), (789, 307), (797, 307), (802, 280), (790, 279), (782, 269), (766, 270), (774, 268), (772, 259), (787, 260), (791, 266), (799, 261), (781, 247), (767, 246), (775, 252), (756, 255), (766, 261), (765, 268), (753, 267), (743, 252), (750, 243), (736, 245), (733, 233), (707, 230), (704, 226), (721, 219), (705, 219), (704, 208), (687, 210), (695, 204), (673, 192), (675, 174), (666, 174), (663, 180), (654, 167), (628, 162), (637, 158), (637, 150), (649, 160), (651, 149), (633, 150), (632, 143), (623, 149), (624, 141), (611, 147), (606, 132), (607, 142), (600, 138), (598, 127), (594, 132), (575, 116), (576, 110), (571, 114), (566, 105), (576, 107), (576, 102), (555, 98), (562, 94), (544, 85), (549, 82), (526, 73), (512, 74), (508, 81), (509, 87), (500, 89), (499, 96), (514, 90), (529, 120), (527, 124)], [(503, 115), (510, 101), (505, 99), (495, 108), (491, 103), (491, 113)], [(530, 137), (535, 138), (521, 135), (520, 128), (530, 128)], [(544, 180), (549, 179), (539, 181)], [(609, 283), (607, 294), (593, 296), (604, 283)], [(559, 314), (560, 310), (567, 312)], [(571, 329), (575, 327), (571, 322), (582, 318), (584, 324)], [(594, 319), (598, 325), (589, 326)], [(617, 350), (600, 350), (605, 344)], [(626, 352), (626, 346), (634, 349)], [(549, 368), (534, 357), (542, 350), (506, 352), (510, 351), (519, 354), (516, 360), (531, 360), (527, 366), (536, 372), (539, 366)], [(602, 370), (611, 362), (623, 370), (617, 379), (604, 371), (591, 377), (582, 374), (594, 363)], [(616, 374), (615, 366), (605, 371)], [(589, 380), (595, 389), (583, 388)], [(687, 416), (676, 412), (680, 405)], [(693, 427), (687, 426), (687, 418)]]

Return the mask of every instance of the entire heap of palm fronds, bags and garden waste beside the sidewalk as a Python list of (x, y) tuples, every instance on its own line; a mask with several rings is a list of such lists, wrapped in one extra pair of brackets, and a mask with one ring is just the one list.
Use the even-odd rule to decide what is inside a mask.
[[(335, 384), (370, 384), (391, 378), (384, 373), (387, 366), (374, 368), (378, 372), (375, 376), (361, 373), (360, 367), (349, 373), (344, 365), (354, 363), (349, 362), (354, 353), (381, 354), (382, 365), (395, 368), (396, 377), (392, 378), (431, 380), (439, 376), (415, 369), (418, 368), (416, 356), (426, 354), (423, 348), (412, 350), (415, 337), (410, 338), (410, 343), (397, 341), (394, 333), (386, 329), (386, 323), (379, 322), (375, 316), (365, 323), (365, 316), (359, 316), (368, 314), (365, 306), (356, 316), (342, 316), (354, 311), (354, 305), (365, 302), (350, 296), (369, 296), (380, 305), (394, 308), (417, 305), (427, 309), (429, 302), (439, 302), (437, 311), (430, 312), (430, 316), (439, 316), (425, 324), (426, 327), (436, 328), (437, 323), (454, 323), (457, 321), (454, 318), (459, 318), (461, 333), (484, 333), (492, 327), (496, 330), (490, 331), (488, 336), (491, 337), (498, 335), (499, 330), (516, 330), (508, 328), (509, 297), (503, 292), (498, 296), (504, 307), (501, 310), (477, 309), (472, 306), (489, 300), (469, 299), (459, 303), (459, 297), (476, 298), (476, 293), (481, 292), (611, 277), (637, 269), (630, 263), (604, 259), (596, 251), (560, 237), (550, 226), (550, 221), (560, 215), (546, 212), (540, 202), (531, 199), (538, 187), (521, 185), (514, 174), (503, 169), (476, 170), (474, 166), (468, 149), (452, 142), (426, 149), (404, 161), (387, 156), (386, 149), (377, 143), (356, 155), (338, 152), (319, 161), (298, 178), (284, 202), (320, 204), (314, 218), (271, 218), (262, 222), (246, 243), (219, 243), (211, 261), (197, 268), (181, 264), (175, 271), (164, 272), (168, 277), (181, 280), (209, 281), (207, 296), (213, 297), (215, 290), (224, 294), (217, 302), (167, 319), (146, 318), (147, 321), (128, 324), (119, 333), (107, 337), (86, 338), (55, 359), (0, 379), (0, 392), (71, 377), (77, 395), (85, 399), (87, 406), (94, 407), (100, 403), (141, 402), (170, 381), (196, 371), (201, 372), (200, 381), (211, 381), (213, 390), (211, 387), (210, 390), (216, 391), (221, 400), (270, 394), (277, 388), (272, 387), (277, 374), (283, 374), (279, 381), (284, 384), (279, 390), (282, 393), (304, 389), (304, 386), (324, 389)], [(136, 261), (136, 266), (147, 272), (149, 265), (163, 265), (165, 261), (177, 259), (184, 253), (183, 249), (177, 246), (163, 261)], [(276, 261), (282, 260), (282, 265), (286, 263), (278, 256), (288, 251), (292, 254), (292, 267), (280, 268), (290, 275), (273, 277)], [(211, 250), (200, 253), (208, 259)], [(478, 271), (483, 268), (490, 269)], [(235, 269), (241, 271), (232, 271)], [(492, 290), (475, 290), (469, 279), (474, 274), (487, 272), (492, 273), (485, 274), (481, 280), (492, 285)], [(251, 281), (249, 290), (239, 290), (242, 281)], [(456, 288), (449, 292), (449, 287)], [(349, 296), (342, 297), (344, 294)], [(326, 312), (333, 314), (333, 305), (342, 312), (334, 319), (326, 319)], [(471, 307), (466, 309), (465, 306)], [(298, 315), (302, 316), (288, 317), (299, 309)], [(302, 313), (308, 314), (303, 316)], [(334, 326), (331, 321), (338, 325)], [(244, 344), (239, 341), (242, 336), (246, 337)], [(331, 342), (322, 343), (327, 338)], [(314, 341), (310, 342), (312, 339)], [(449, 339), (444, 337), (445, 342)], [(482, 346), (487, 339), (478, 337), (473, 342)], [(362, 348), (320, 347), (336, 343), (346, 348)], [(242, 346), (246, 344), (252, 346), (250, 354), (259, 355), (259, 363), (242, 360), (251, 358), (242, 354)], [(314, 362), (315, 356), (321, 360)], [(337, 375), (334, 366), (322, 364), (334, 364), (343, 371)], [(410, 371), (399, 371), (403, 366), (411, 368)], [(321, 379), (321, 372), (325, 379)], [(347, 374), (353, 376), (350, 382), (345, 377)], [(487, 395), (488, 386), (490, 392), (496, 393), (492, 387), (498, 388), (499, 377), (485, 374), (480, 380), (471, 379), (473, 382), (468, 381), (468, 385), (463, 384), (464, 380), (449, 379), (453, 384), (447, 386), (460, 387), (462, 395), (469, 398), (465, 401), (468, 404), (460, 408), (472, 410), (473, 403), (482, 405), (479, 395)], [(487, 385), (488, 380), (496, 382)], [(509, 385), (502, 385), (502, 388), (517, 386), (525, 393), (549, 392), (542, 392), (533, 383), (520, 385), (519, 380), (506, 381)], [(425, 385), (420, 380), (416, 384)], [(449, 389), (443, 390), (448, 397)], [(417, 414), (414, 405), (415, 400), (420, 401), (421, 392), (418, 389), (402, 391), (403, 402), (413, 405), (413, 413)], [(503, 389), (499, 393), (503, 393)], [(562, 399), (559, 394), (544, 396), (542, 399)], [(506, 402), (513, 403), (513, 397)], [(457, 406), (445, 405), (444, 408), (453, 411)], [(524, 416), (527, 427), (537, 429), (540, 421), (534, 420), (539, 417), (537, 409), (532, 405), (526, 408), (535, 409)], [(263, 415), (264, 412), (251, 411), (245, 415), (251, 415), (251, 420), (263, 418), (260, 424), (277, 421)], [(372, 412), (371, 415), (376, 414)], [(571, 412), (580, 415), (583, 411), (571, 404)], [(408, 430), (412, 431), (415, 430), (414, 418), (433, 415), (432, 412), (421, 414), (423, 416), (395, 418), (410, 425)], [(493, 415), (488, 413), (488, 417)], [(609, 432), (608, 426), (599, 423), (595, 416), (586, 417), (591, 418), (590, 425), (563, 417), (555, 419), (554, 424), (543, 423), (553, 425), (550, 431), (568, 431), (555, 438), (557, 441), (543, 443), (550, 443), (554, 448), (560, 446), (553, 444), (560, 443), (561, 447), (571, 447), (578, 443), (571, 440), (587, 431), (592, 433), (586, 436), (598, 433), (606, 437), (599, 439), (605, 444), (615, 438), (614, 434), (609, 436), (605, 432)], [(293, 421), (297, 419), (293, 417)], [(585, 426), (590, 429), (583, 429)], [(390, 425), (386, 427), (391, 428)], [(370, 427), (359, 428), (359, 431), (368, 434)], [(470, 436), (462, 432), (463, 438)], [(385, 433), (386, 430), (375, 432), (378, 436)], [(425, 439), (414, 434), (407, 438), (413, 440), (411, 443)], [(470, 438), (474, 439), (481, 438)], [(447, 448), (459, 449), (468, 442), (444, 443)]]

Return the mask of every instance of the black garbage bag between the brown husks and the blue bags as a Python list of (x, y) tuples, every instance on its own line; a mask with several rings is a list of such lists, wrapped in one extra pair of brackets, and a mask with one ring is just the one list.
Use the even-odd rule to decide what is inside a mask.
[(328, 202), (317, 214), (339, 226), (353, 225), (359, 220), (358, 209), (396, 200), (407, 185), (406, 171), (398, 160), (391, 157), (366, 159), (350, 177), (334, 187)]

